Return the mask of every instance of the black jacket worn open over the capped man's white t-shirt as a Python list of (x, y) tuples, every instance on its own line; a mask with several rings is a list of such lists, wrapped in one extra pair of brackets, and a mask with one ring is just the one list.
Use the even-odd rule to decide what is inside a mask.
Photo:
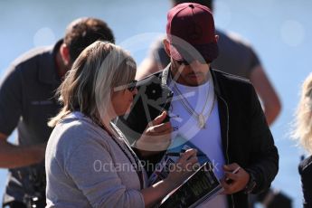
[[(147, 123), (156, 118), (166, 100), (166, 77), (169, 66), (138, 82), (134, 105), (125, 117), (118, 118), (118, 127), (130, 142), (140, 137)], [(260, 101), (250, 81), (211, 69), (226, 164), (237, 163), (255, 176), (253, 194), (268, 189), (279, 169), (279, 154), (274, 146)], [(165, 90), (164, 90), (165, 89)], [(168, 106), (165, 107), (165, 109)], [(207, 145), (209, 145), (207, 143)], [(161, 156), (143, 158), (156, 162)], [(228, 197), (229, 207), (248, 207), (243, 192)]]

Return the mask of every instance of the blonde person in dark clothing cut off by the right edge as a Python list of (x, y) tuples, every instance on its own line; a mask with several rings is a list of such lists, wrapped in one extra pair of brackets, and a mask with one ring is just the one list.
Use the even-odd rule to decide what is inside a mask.
[(308, 75), (302, 85), (294, 137), (310, 155), (301, 161), (299, 174), (301, 175), (304, 207), (312, 207), (312, 73)]

